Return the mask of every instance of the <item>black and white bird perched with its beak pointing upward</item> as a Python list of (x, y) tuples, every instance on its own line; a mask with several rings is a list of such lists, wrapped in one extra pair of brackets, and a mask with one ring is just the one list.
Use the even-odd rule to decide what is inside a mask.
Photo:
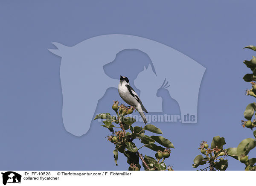
[(148, 113), (145, 107), (142, 105), (142, 102), (137, 95), (137, 93), (133, 90), (133, 88), (129, 84), (129, 80), (125, 76), (120, 76), (120, 83), (118, 85), (118, 93), (120, 97), (129, 105), (134, 106), (136, 110), (140, 113), (144, 123), (146, 124), (148, 121), (143, 113), (143, 110)]

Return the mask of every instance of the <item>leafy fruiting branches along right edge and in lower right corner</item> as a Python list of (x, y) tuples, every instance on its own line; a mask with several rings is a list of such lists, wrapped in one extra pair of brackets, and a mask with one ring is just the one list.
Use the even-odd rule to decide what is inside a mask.
[[(246, 46), (244, 48), (252, 49), (256, 51), (256, 46)], [(252, 73), (246, 74), (243, 79), (246, 82), (250, 82), (252, 88), (246, 90), (247, 96), (252, 96), (256, 98), (256, 57), (253, 56), (253, 58), (250, 61), (244, 60), (244, 64), (252, 70)], [(253, 119), (252, 117), (256, 116), (256, 103), (250, 103), (247, 105), (244, 111), (244, 118), (247, 119), (247, 121), (241, 120), (242, 126), (244, 128), (249, 128), (253, 130), (253, 128), (256, 127), (256, 119)], [(198, 167), (199, 165), (204, 165), (205, 163), (209, 163), (209, 170), (226, 170), (227, 169), (227, 160), (224, 160), (223, 158), (219, 159), (219, 162), (216, 162), (215, 160), (219, 156), (230, 156), (235, 158), (236, 160), (239, 160), (241, 163), (244, 163), (245, 170), (246, 171), (255, 171), (256, 170), (256, 158), (250, 158), (247, 156), (249, 152), (256, 147), (256, 130), (253, 131), (254, 138), (246, 138), (242, 140), (237, 147), (231, 147), (224, 150), (222, 146), (226, 144), (224, 138), (214, 137), (212, 140), (211, 148), (208, 148), (208, 145), (206, 142), (201, 143), (201, 153), (204, 154), (206, 157), (204, 158), (202, 155), (198, 155), (195, 157), (193, 167)], [(206, 147), (206, 146), (207, 147)], [(206, 150), (207, 149), (207, 150)], [(212, 152), (214, 155), (212, 155)], [(205, 168), (206, 169), (206, 168)], [(201, 169), (204, 170), (204, 169)]]

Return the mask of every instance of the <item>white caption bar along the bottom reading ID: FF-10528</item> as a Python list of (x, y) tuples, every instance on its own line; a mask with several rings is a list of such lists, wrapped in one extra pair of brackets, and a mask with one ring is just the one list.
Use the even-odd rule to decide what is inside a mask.
[[(255, 183), (254, 171), (1, 171), (6, 186), (186, 184), (198, 186), (246, 185)], [(249, 174), (249, 175), (248, 175)], [(228, 182), (227, 182), (228, 181)], [(0, 183), (0, 185), (2, 184)], [(15, 184), (18, 183), (18, 184)]]

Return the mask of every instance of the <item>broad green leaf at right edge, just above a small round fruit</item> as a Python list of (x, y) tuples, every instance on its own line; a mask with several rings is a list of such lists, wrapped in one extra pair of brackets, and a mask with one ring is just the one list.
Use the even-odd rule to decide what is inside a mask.
[(237, 146), (237, 156), (240, 160), (241, 154), (247, 155), (252, 148), (256, 146), (256, 142), (253, 138), (246, 138), (242, 140), (239, 145)]

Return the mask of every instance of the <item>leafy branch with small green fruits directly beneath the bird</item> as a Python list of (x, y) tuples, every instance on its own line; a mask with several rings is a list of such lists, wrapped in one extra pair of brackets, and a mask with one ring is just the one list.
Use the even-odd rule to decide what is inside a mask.
[[(155, 134), (163, 134), (160, 128), (155, 127), (154, 125), (145, 125), (143, 128), (138, 126), (132, 126), (136, 119), (132, 117), (125, 117), (128, 114), (133, 113), (135, 110), (134, 107), (125, 105), (119, 105), (118, 101), (114, 101), (112, 105), (112, 109), (116, 112), (116, 116), (111, 116), (110, 113), (100, 113), (95, 116), (94, 119), (105, 119), (103, 121), (105, 128), (108, 128), (109, 131), (112, 132), (110, 136), (108, 136), (108, 141), (112, 142), (115, 145), (115, 149), (113, 151), (114, 160), (116, 165), (118, 160), (118, 152), (122, 153), (127, 157), (127, 163), (130, 165), (128, 170), (139, 171), (141, 169), (139, 160), (141, 160), (142, 166), (145, 170), (149, 171), (163, 171), (163, 170), (172, 170), (172, 167), (166, 167), (164, 160), (170, 157), (171, 150), (170, 148), (174, 148), (172, 142), (169, 139), (166, 139), (162, 136), (147, 136), (145, 135), (145, 131), (150, 131)], [(114, 124), (119, 124), (119, 126), (115, 126)], [(121, 128), (121, 131), (114, 131), (114, 128)], [(130, 130), (130, 132), (127, 132)], [(140, 148), (134, 143), (134, 140), (137, 139), (144, 145)], [(155, 142), (159, 143), (162, 146), (156, 145)], [(155, 157), (143, 156), (140, 154), (139, 149), (147, 147), (153, 151), (156, 151)], [(164, 148), (165, 147), (165, 148)], [(160, 160), (163, 160), (160, 162)]]

